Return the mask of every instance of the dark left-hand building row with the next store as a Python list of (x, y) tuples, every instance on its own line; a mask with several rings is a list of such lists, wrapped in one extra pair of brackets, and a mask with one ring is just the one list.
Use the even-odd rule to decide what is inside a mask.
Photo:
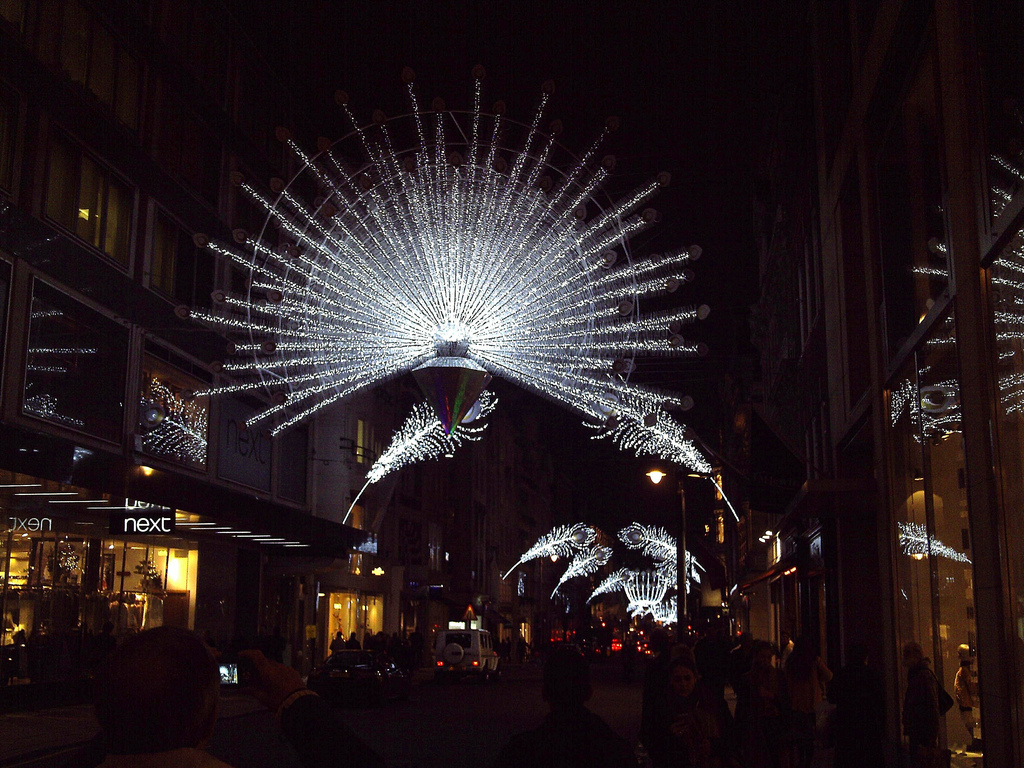
[(4, 683), (74, 687), (106, 623), (266, 642), (306, 670), (336, 632), (427, 634), (463, 603), (535, 622), (519, 604), (538, 590), (495, 578), (515, 560), (504, 521), (536, 539), (551, 514), (511, 427), (473, 483), (430, 462), (352, 507), (411, 381), (273, 439), (244, 426), (256, 401), (202, 395), (226, 341), (184, 308), (246, 274), (199, 246), (262, 227), (238, 181), (298, 170), (279, 126), (316, 143), (283, 79), (301, 61), (266, 55), (301, 14), (260, 13), (0, 3)]

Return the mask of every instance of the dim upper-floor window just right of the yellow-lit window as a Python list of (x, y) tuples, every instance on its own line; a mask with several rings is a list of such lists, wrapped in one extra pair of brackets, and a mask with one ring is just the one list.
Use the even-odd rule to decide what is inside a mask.
[(214, 257), (197, 248), (191, 236), (157, 209), (150, 250), (150, 287), (188, 306), (209, 307)]

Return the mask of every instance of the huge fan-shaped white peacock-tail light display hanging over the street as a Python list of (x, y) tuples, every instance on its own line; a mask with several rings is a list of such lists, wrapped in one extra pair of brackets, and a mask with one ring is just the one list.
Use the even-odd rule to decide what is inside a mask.
[[(370, 126), (339, 92), (347, 136), (307, 155), (281, 130), (299, 173), (269, 191), (234, 177), (267, 220), (260, 233), (236, 230), (234, 243), (196, 236), (250, 275), (244, 295), (215, 291), (214, 311), (178, 308), (240, 337), (219, 367), (231, 381), (199, 394), (269, 394), (248, 426), (269, 422), (276, 435), (410, 371), (436, 393), (442, 379), (482, 370), (608, 423), (635, 450), (652, 429), (657, 455), (698, 469), (702, 457), (664, 411), (688, 398), (629, 383), (638, 355), (707, 350), (681, 335), (707, 306), (640, 313), (641, 299), (692, 280), (687, 265), (700, 255), (692, 247), (638, 261), (630, 252), (629, 238), (656, 221), (643, 206), (669, 175), (599, 201), (613, 159), (598, 151), (616, 121), (566, 161), (540, 129), (553, 86), (522, 125), (503, 105), (481, 109), (482, 77), (474, 69), (471, 111), (425, 110), (406, 70), (411, 113), (378, 111)], [(438, 370), (453, 367), (458, 376)], [(458, 406), (474, 398), (470, 384), (461, 381), (461, 403), (450, 384), (435, 398), (451, 406), (439, 413), (450, 431)]]

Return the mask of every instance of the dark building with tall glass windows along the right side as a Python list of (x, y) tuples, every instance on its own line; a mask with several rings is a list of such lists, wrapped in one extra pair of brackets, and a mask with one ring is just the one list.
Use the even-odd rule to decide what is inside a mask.
[(805, 446), (778, 520), (797, 629), (834, 668), (868, 645), (891, 744), (901, 646), (948, 690), (971, 659), (980, 727), (953, 710), (941, 742), (1021, 765), (1021, 8), (790, 13), (766, 51), (796, 88), (765, 110), (755, 336), (763, 412)]

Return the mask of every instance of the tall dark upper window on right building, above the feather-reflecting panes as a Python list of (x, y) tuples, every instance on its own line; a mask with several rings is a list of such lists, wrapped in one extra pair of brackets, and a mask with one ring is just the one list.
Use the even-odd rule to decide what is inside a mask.
[(890, 359), (949, 287), (935, 55), (924, 57), (878, 165), (878, 206)]

